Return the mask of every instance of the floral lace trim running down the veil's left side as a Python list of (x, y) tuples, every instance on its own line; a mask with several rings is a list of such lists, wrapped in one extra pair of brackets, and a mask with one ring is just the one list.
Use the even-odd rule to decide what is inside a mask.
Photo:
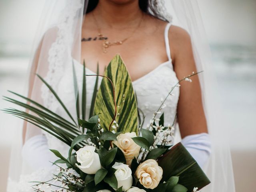
[[(58, 21), (57, 27), (57, 38), (55, 42), (52, 43), (50, 50), (48, 52), (48, 72), (44, 77), (44, 80), (54, 90), (56, 90), (58, 82), (64, 72), (64, 62), (66, 61), (67, 48), (71, 47), (72, 44), (72, 29), (74, 20), (78, 10), (82, 8), (82, 3), (80, 1), (68, 0), (65, 8), (60, 14), (60, 20)], [(57, 107), (58, 102), (56, 98), (49, 91), (46, 85), (42, 85), (41, 96), (44, 102), (44, 106), (50, 110), (54, 110)]]

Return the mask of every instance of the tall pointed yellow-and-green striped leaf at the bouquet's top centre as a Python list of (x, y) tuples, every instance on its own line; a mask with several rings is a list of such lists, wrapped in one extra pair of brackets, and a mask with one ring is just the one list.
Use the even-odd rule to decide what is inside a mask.
[[(110, 78), (114, 85), (117, 112), (115, 120), (119, 127), (116, 132), (138, 132), (138, 111), (132, 80), (126, 69), (124, 62), (117, 54), (110, 62), (104, 72), (104, 76)], [(101, 113), (101, 126), (104, 130), (108, 127), (114, 117), (115, 104), (113, 98), (113, 88), (107, 78), (103, 78), (100, 89), (96, 96), (94, 114)]]

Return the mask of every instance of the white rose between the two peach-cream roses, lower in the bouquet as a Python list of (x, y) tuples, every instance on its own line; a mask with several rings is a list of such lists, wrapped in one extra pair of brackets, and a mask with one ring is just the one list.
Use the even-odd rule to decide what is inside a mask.
[[(118, 188), (122, 187), (122, 191), (126, 191), (132, 186), (132, 170), (128, 165), (115, 162), (112, 168), (116, 169), (115, 176), (118, 183)], [(116, 189), (115, 189), (116, 190)]]

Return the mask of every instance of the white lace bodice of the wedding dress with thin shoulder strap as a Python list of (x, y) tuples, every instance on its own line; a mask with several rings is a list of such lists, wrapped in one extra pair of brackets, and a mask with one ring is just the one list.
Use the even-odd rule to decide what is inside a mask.
[[(169, 60), (167, 62), (160, 64), (158, 67), (156, 67), (148, 74), (132, 82), (134, 91), (136, 92), (137, 95), (138, 108), (140, 108), (140, 110), (142, 110), (142, 112), (146, 116), (144, 126), (146, 126), (150, 122), (152, 115), (159, 108), (161, 104), (161, 99), (165, 98), (168, 95), (168, 92), (171, 90), (172, 86), (174, 86), (178, 82), (176, 73), (173, 70), (172, 60), (170, 56), (170, 48), (168, 43), (169, 27), (170, 24), (166, 26), (165, 30), (166, 52)], [(77, 83), (79, 89), (78, 91), (79, 93), (82, 93), (83, 65), (74, 59), (73, 63), (77, 76)], [(68, 110), (70, 110), (72, 115), (75, 117), (76, 106), (74, 99), (74, 84), (73, 77), (70, 76), (70, 70), (72, 70), (72, 66), (66, 68), (66, 72), (64, 72), (62, 78), (58, 83), (57, 93), (66, 105), (66, 107), (68, 108)], [(86, 68), (86, 74), (95, 73)], [(88, 119), (95, 80), (96, 76), (86, 76), (86, 119)], [(98, 88), (100, 86), (101, 80), (102, 77), (99, 76)], [(165, 102), (166, 108), (163, 109), (164, 122), (166, 125), (172, 124), (174, 121), (178, 104), (179, 87), (174, 88), (172, 94), (173, 95), (168, 96), (168, 99)], [(56, 108), (56, 112), (61, 116), (70, 119), (61, 106)], [(68, 146), (66, 146), (65, 144), (63, 144), (62, 142), (60, 142), (59, 140), (50, 135), (48, 135), (47, 137), (49, 148), (54, 148), (62, 152), (64, 155), (67, 155)]]

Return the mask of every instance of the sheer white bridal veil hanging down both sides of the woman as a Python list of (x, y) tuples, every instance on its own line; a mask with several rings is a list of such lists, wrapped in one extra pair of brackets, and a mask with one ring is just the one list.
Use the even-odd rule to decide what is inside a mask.
[[(208, 122), (208, 130), (212, 140), (212, 154), (205, 172), (211, 180), (211, 184), (204, 188), (204, 192), (234, 192), (234, 178), (232, 161), (228, 146), (228, 128), (222, 126), (222, 102), (218, 98), (216, 88), (218, 85), (212, 74), (210, 61), (210, 48), (206, 39), (204, 26), (200, 16), (200, 10), (196, 0), (158, 0), (158, 10), (166, 18), (170, 18), (174, 25), (188, 31), (191, 36), (194, 58), (199, 74), (203, 96), (204, 110)], [(80, 61), (81, 55), (81, 31), (83, 22), (86, 22), (85, 12), (88, 0), (48, 0), (42, 13), (36, 38), (30, 73), (28, 74), (28, 96), (40, 104), (54, 110), (58, 102), (48, 89), (42, 85), (38, 77), (42, 76), (55, 90), (58, 90), (57, 82), (64, 71), (72, 66), (72, 59)], [(85, 8), (85, 9), (84, 9)], [(72, 70), (70, 70), (72, 76)], [(212, 89), (214, 87), (214, 89)], [(75, 95), (73, 102), (76, 104)], [(73, 114), (76, 114), (74, 112)], [(24, 180), (35, 180), (33, 173), (36, 168), (28, 168), (22, 159), (21, 129), (17, 127), (16, 140), (18, 146), (13, 148), (10, 161), (10, 174), (8, 191), (27, 191)], [(39, 128), (32, 124), (26, 125), (26, 140), (42, 134)], [(14, 138), (15, 139), (15, 138)], [(180, 138), (176, 139), (176, 142)], [(26, 142), (25, 142), (26, 143)], [(18, 166), (17, 159), (21, 162)], [(36, 159), (36, 157), (35, 157)], [(48, 165), (40, 166), (45, 170)], [(45, 171), (42, 171), (42, 175)], [(30, 175), (30, 177), (29, 177)]]

